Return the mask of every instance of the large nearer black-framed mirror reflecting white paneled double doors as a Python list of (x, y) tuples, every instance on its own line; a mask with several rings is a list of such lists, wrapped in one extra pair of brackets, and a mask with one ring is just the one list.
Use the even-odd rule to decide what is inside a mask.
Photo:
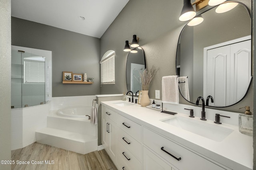
[(242, 3), (220, 14), (216, 8), (204, 12), (199, 25), (183, 28), (176, 67), (186, 100), (212, 96), (209, 106), (226, 107), (242, 100), (252, 82), (251, 19)]

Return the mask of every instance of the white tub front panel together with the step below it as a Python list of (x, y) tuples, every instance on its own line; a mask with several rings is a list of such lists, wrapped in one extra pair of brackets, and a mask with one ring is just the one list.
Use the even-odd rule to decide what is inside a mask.
[(86, 154), (98, 149), (97, 126), (88, 119), (62, 117), (51, 111), (47, 127), (36, 131), (36, 141)]

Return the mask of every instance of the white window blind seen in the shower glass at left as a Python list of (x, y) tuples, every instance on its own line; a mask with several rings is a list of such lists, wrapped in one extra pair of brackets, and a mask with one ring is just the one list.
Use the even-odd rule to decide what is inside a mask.
[(44, 83), (45, 63), (24, 61), (24, 83)]

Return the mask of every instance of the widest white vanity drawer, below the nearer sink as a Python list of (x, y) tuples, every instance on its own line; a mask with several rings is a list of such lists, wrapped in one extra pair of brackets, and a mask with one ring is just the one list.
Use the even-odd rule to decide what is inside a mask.
[(224, 168), (217, 164), (204, 159), (198, 154), (185, 149), (145, 127), (143, 128), (143, 143), (180, 170), (224, 170)]

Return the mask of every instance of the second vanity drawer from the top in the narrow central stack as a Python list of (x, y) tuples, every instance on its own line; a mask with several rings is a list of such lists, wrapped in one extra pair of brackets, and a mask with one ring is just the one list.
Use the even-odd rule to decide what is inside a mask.
[(118, 141), (124, 145), (138, 160), (141, 161), (141, 144), (125, 133), (122, 129), (118, 129)]

